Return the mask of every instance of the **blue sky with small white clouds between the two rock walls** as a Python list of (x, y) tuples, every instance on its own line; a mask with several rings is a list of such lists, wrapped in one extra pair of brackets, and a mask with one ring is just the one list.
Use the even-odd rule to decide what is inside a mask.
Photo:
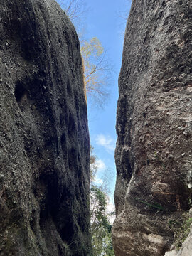
[[(58, 0), (61, 3), (63, 0)], [(70, 0), (67, 0), (70, 1)], [(80, 0), (78, 0), (80, 2)], [(64, 0), (63, 3), (66, 1)], [(97, 37), (107, 50), (106, 57), (114, 67), (110, 78), (110, 98), (104, 109), (90, 107), (94, 102), (88, 100), (88, 120), (91, 144), (97, 155), (97, 181), (104, 176), (109, 181), (114, 193), (116, 169), (114, 164), (114, 148), (117, 140), (115, 131), (116, 110), (118, 100), (118, 76), (122, 62), (122, 48), (126, 17), (131, 6), (130, 0), (83, 0), (85, 14), (82, 16), (84, 38)], [(126, 15), (127, 14), (127, 15)], [(81, 27), (81, 24), (80, 24)]]

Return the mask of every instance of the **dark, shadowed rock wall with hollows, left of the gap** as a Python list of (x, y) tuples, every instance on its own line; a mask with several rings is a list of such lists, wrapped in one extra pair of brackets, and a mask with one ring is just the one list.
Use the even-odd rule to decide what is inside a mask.
[(0, 255), (90, 255), (80, 44), (53, 0), (1, 0)]

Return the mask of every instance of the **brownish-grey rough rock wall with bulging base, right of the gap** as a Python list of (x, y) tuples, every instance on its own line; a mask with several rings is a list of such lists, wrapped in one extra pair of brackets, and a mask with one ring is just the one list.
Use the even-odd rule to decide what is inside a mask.
[(192, 188), (191, 1), (133, 0), (117, 107), (117, 256), (160, 256)]

